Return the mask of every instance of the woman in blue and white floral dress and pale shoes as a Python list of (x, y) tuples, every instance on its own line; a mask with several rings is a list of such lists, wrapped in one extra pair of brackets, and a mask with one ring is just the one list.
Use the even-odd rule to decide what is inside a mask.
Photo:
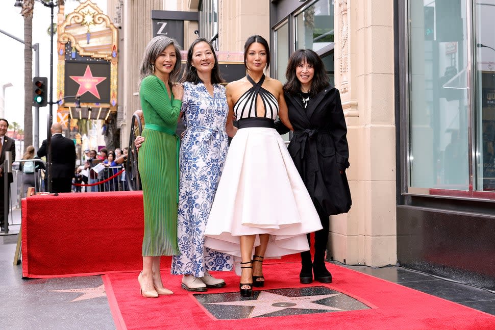
[[(180, 149), (178, 245), (180, 255), (172, 258), (171, 273), (184, 275), (182, 288), (206, 291), (225, 281), (212, 271), (233, 269), (230, 255), (204, 247), (205, 227), (228, 149), (228, 135), (237, 129), (228, 117), (224, 82), (212, 45), (198, 38), (189, 47), (182, 79), (182, 119), (186, 130)], [(229, 120), (227, 120), (229, 118)], [(135, 141), (140, 146), (141, 138)]]

